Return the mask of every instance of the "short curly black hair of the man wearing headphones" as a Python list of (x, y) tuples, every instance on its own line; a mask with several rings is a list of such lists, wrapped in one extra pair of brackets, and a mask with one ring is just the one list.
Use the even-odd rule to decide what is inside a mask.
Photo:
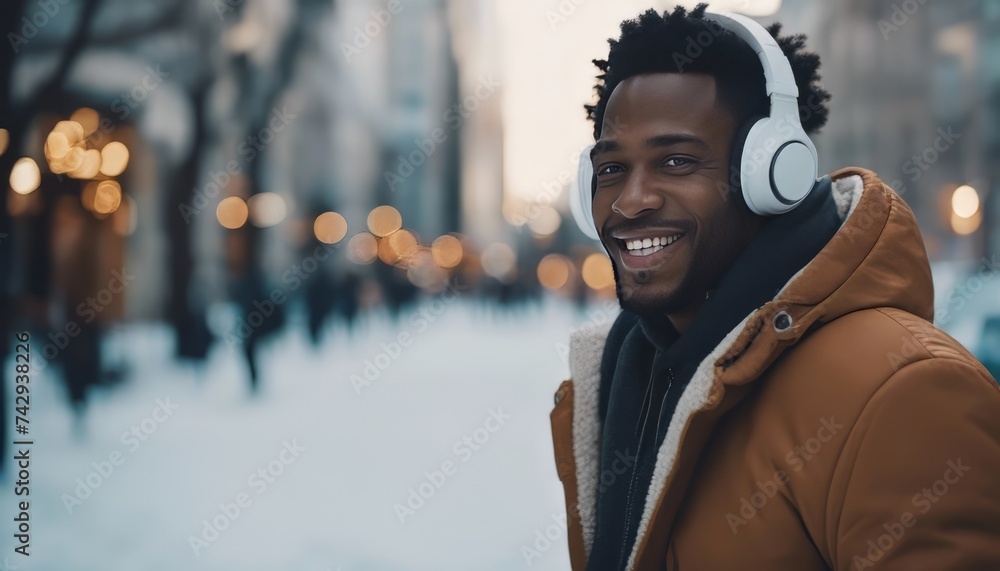
[[(593, 60), (601, 70), (594, 86), (597, 103), (585, 105), (594, 122), (594, 140), (600, 139), (604, 112), (611, 93), (622, 81), (646, 73), (704, 73), (719, 84), (722, 98), (736, 112), (739, 124), (767, 115), (769, 102), (764, 71), (757, 54), (735, 34), (705, 17), (707, 4), (688, 12), (677, 6), (663, 15), (650, 9), (621, 24), (621, 37), (609, 39), (606, 60)], [(826, 124), (830, 94), (819, 85), (819, 56), (805, 51), (804, 35), (780, 37), (781, 24), (767, 31), (778, 42), (792, 66), (799, 88), (799, 117), (806, 133)]]

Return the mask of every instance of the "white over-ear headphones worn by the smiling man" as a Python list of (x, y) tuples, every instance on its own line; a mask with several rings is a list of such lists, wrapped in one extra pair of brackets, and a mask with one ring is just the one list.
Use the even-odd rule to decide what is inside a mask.
[[(799, 89), (792, 66), (771, 34), (757, 22), (732, 13), (706, 12), (705, 16), (736, 34), (757, 53), (771, 100), (770, 114), (744, 126), (740, 133), (746, 133), (745, 140), (741, 142), (737, 137), (733, 143), (742, 146), (739, 184), (743, 199), (751, 211), (762, 216), (788, 212), (809, 194), (819, 170), (816, 147), (799, 121)], [(580, 154), (576, 193), (571, 193), (570, 207), (583, 233), (597, 240), (591, 205), (592, 148)]]

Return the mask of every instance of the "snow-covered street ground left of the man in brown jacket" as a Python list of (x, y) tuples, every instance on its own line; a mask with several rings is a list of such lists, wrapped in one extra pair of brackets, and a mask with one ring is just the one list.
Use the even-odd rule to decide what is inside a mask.
[[(374, 316), (319, 350), (292, 326), (262, 348), (258, 398), (225, 344), (195, 370), (165, 328), (119, 330), (133, 375), (92, 393), (82, 433), (61, 388), (32, 382), (31, 556), (13, 553), (8, 474), (0, 569), (568, 569), (548, 414), (570, 330), (612, 304), (427, 300), (423, 321)], [(352, 384), (366, 360), (388, 367)]]

